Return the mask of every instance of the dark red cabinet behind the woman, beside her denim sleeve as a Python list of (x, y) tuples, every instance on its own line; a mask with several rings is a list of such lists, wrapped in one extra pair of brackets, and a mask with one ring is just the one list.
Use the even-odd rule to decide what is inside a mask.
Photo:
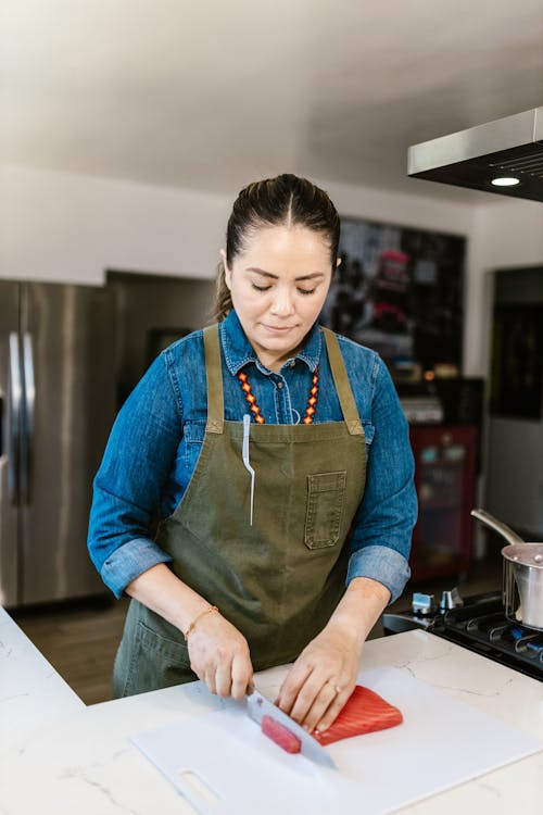
[(411, 556), (414, 580), (464, 574), (471, 561), (478, 429), (412, 425), (419, 514)]

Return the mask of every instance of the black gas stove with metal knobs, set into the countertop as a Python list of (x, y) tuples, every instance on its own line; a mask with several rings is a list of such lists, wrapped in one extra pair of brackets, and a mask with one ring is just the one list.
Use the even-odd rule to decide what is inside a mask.
[(413, 594), (412, 611), (383, 615), (386, 635), (424, 628), (489, 660), (543, 681), (543, 631), (512, 623), (501, 592), (462, 599), (457, 589)]

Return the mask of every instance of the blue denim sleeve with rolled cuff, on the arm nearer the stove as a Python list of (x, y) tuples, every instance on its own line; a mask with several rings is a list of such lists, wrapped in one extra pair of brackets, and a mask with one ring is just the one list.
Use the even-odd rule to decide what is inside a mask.
[(366, 488), (350, 538), (346, 582), (369, 577), (386, 586), (390, 602), (409, 579), (408, 556), (417, 519), (415, 466), (408, 425), (383, 362), (376, 358)]

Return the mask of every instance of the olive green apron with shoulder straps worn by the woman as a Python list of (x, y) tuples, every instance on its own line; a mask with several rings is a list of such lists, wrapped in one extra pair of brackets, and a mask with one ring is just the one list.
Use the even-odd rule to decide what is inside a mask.
[[(293, 661), (327, 624), (345, 588), (343, 546), (364, 494), (366, 443), (336, 336), (324, 329), (343, 422), (250, 425), (224, 418), (218, 327), (204, 330), (207, 423), (190, 484), (155, 540), (184, 582), (247, 638), (255, 670)], [(317, 405), (318, 411), (318, 405)], [(114, 693), (192, 681), (181, 632), (132, 600)]]

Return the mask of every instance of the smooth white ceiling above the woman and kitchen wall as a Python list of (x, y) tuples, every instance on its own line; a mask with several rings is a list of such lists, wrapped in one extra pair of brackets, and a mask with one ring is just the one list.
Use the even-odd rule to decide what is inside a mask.
[(543, 0), (2, 0), (0, 48), (4, 161), (216, 192), (481, 200), (407, 147), (543, 104)]

